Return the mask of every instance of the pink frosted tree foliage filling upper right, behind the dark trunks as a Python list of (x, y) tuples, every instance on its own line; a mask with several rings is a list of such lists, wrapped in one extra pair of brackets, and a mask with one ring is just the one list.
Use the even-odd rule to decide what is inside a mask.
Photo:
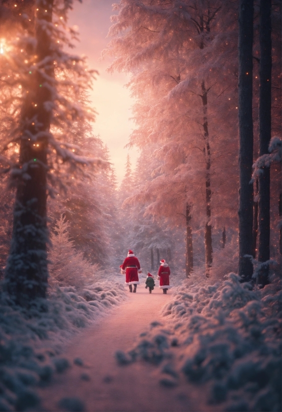
[[(143, 175), (137, 188), (138, 179), (134, 180), (137, 191), (125, 199), (125, 204), (140, 211), (144, 208), (146, 215), (162, 224), (169, 221), (174, 227), (185, 228), (188, 203), (193, 242), (200, 230), (203, 239), (207, 223), (212, 226), (212, 241), (206, 230), (205, 237), (210, 236), (206, 252), (211, 250), (210, 246), (215, 252), (214, 235), (224, 227), (235, 232), (238, 226), (238, 2), (121, 0), (113, 7), (116, 15), (112, 16), (109, 30), (111, 40), (103, 53), (114, 57), (110, 71), (131, 74), (127, 86), (136, 99), (136, 128), (129, 146), (140, 149), (138, 174)], [(281, 6), (273, 5), (272, 13), (272, 81), (276, 85), (272, 130), (279, 134)], [(256, 16), (255, 59), (260, 55), (258, 28)], [(255, 137), (258, 70), (255, 63)], [(254, 154), (257, 151), (255, 139)], [(147, 176), (144, 169), (150, 172)], [(272, 180), (280, 185), (281, 172), (277, 172)], [(210, 194), (206, 191), (208, 187)], [(271, 207), (275, 207), (273, 215), (277, 214), (275, 196), (271, 202)], [(133, 217), (134, 209), (128, 210), (133, 211)], [(277, 238), (276, 223), (273, 227), (272, 241)], [(221, 254), (227, 256), (224, 251)], [(272, 256), (277, 254), (278, 248)], [(236, 270), (233, 251), (230, 256), (223, 274)], [(198, 259), (199, 254), (194, 253), (194, 257)], [(214, 272), (219, 267), (219, 259), (216, 260), (215, 252)]]

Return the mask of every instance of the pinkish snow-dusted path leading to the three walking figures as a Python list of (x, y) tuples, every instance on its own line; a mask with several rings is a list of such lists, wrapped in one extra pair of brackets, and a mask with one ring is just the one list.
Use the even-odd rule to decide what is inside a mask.
[[(62, 398), (79, 398), (86, 411), (200, 411), (187, 383), (176, 388), (159, 384), (156, 368), (141, 362), (117, 366), (116, 350), (131, 348), (141, 332), (159, 320), (162, 306), (171, 295), (155, 288), (152, 294), (138, 286), (128, 293), (129, 300), (75, 337), (64, 356), (73, 365), (57, 374), (50, 386), (40, 389), (43, 411), (77, 411), (62, 409)], [(81, 358), (84, 365), (73, 364)], [(195, 390), (195, 389), (194, 389)], [(197, 406), (196, 406), (197, 405)]]

